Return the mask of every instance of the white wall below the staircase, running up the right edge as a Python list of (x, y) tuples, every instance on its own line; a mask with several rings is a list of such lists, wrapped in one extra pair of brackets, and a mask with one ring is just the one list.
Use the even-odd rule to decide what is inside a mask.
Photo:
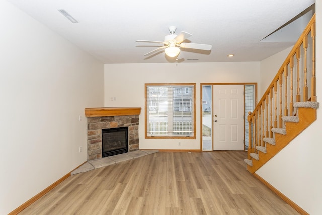
[[(322, 1), (316, 1), (316, 95), (322, 95)], [(268, 62), (266, 62), (268, 63)], [(262, 65), (261, 65), (262, 68)], [(263, 75), (261, 70), (261, 76)], [(322, 211), (322, 105), (317, 120), (256, 173), (309, 214)]]

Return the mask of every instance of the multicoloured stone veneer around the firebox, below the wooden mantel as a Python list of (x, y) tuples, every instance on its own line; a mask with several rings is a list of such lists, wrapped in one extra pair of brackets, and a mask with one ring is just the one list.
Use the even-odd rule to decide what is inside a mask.
[(128, 127), (129, 152), (139, 150), (139, 115), (87, 117), (88, 160), (102, 158), (102, 129)]

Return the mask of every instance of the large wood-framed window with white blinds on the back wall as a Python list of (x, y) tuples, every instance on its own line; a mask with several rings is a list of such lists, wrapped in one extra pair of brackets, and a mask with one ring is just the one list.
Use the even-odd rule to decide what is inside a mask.
[(145, 84), (146, 138), (196, 138), (195, 85)]

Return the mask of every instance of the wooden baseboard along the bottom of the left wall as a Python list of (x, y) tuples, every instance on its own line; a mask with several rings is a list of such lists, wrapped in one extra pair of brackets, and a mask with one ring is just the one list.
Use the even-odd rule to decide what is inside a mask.
[[(84, 162), (85, 163), (85, 162)], [(83, 163), (83, 164), (84, 164)], [(78, 167), (82, 166), (83, 164), (79, 165)], [(77, 169), (78, 167), (76, 167), (75, 169)], [(74, 170), (75, 170), (74, 169)], [(72, 170), (72, 171), (74, 171)], [(32, 203), (34, 203), (35, 201), (37, 201), (39, 198), (41, 198), (43, 195), (45, 195), (46, 193), (48, 193), (50, 190), (52, 190), (53, 188), (55, 188), (58, 184), (60, 184), (61, 182), (63, 182), (64, 180), (66, 180), (69, 176), (70, 173), (72, 172), (70, 171), (69, 173), (67, 173), (66, 175), (64, 175), (63, 177), (61, 177), (60, 179), (58, 179), (58, 181), (54, 182), (53, 184), (51, 184), (49, 187), (47, 187), (46, 189), (44, 189), (43, 191), (41, 191), (40, 193), (38, 193), (37, 195), (35, 195), (34, 197), (32, 197), (31, 199), (29, 199), (28, 201), (26, 201), (25, 203), (23, 203), (22, 205), (20, 205), (18, 208), (16, 208), (15, 210), (13, 210), (12, 212), (10, 212), (8, 215), (16, 215), (18, 213), (20, 213), (21, 211), (23, 211), (24, 209), (26, 209), (28, 206), (30, 206)]]

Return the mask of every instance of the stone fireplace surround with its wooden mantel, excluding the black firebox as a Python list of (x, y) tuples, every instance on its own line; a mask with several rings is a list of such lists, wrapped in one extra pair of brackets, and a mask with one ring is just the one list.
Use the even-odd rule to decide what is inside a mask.
[(102, 158), (102, 130), (128, 128), (128, 152), (139, 150), (141, 108), (85, 108), (88, 160)]

